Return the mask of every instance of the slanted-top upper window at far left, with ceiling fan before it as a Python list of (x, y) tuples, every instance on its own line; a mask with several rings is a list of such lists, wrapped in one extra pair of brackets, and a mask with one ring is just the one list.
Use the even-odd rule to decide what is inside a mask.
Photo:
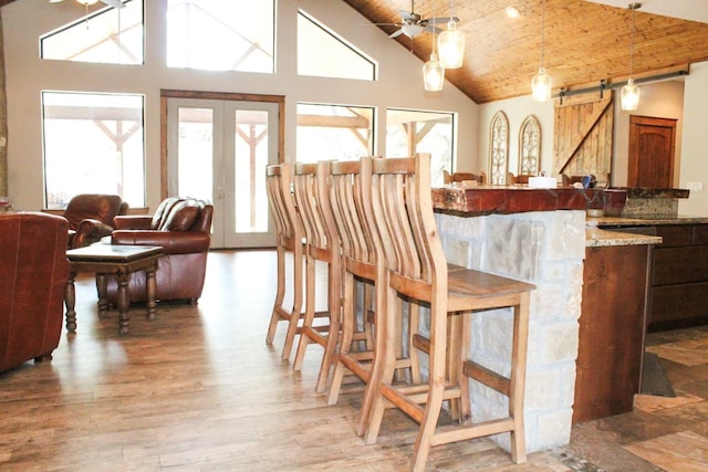
[[(81, 6), (76, 10), (83, 13)], [(110, 64), (143, 64), (143, 1), (104, 8), (40, 38), (41, 57)]]

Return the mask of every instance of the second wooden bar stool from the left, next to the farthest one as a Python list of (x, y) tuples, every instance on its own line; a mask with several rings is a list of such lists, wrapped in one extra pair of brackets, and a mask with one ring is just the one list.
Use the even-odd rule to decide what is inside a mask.
[[(336, 231), (329, 183), (317, 179), (317, 164), (295, 164), (293, 188), (298, 214), (305, 232), (305, 314), (300, 332), (300, 342), (293, 363), (294, 370), (301, 370), (305, 350), (310, 344), (324, 348), (316, 391), (326, 388), (330, 370), (334, 361), (340, 334), (342, 306), (342, 253)], [(327, 269), (327, 310), (315, 312), (317, 287), (315, 270), (317, 262)], [(316, 324), (319, 315), (326, 314), (329, 324)]]

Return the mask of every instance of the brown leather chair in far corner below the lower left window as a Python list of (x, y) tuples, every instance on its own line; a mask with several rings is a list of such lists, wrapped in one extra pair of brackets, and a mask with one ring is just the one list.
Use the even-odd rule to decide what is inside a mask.
[(93, 244), (113, 231), (113, 219), (127, 212), (128, 204), (117, 195), (81, 193), (69, 201), (69, 249)]

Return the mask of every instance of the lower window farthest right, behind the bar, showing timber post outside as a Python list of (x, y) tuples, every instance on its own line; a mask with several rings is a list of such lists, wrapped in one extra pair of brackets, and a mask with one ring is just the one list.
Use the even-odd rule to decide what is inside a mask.
[(433, 186), (444, 183), (444, 170), (452, 172), (452, 113), (414, 109), (386, 111), (386, 157), (430, 154)]

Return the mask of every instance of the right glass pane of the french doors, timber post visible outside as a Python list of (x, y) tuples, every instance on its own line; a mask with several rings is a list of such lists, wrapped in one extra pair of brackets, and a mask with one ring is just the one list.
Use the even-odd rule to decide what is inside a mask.
[(268, 112), (236, 112), (235, 201), (236, 232), (268, 231)]

